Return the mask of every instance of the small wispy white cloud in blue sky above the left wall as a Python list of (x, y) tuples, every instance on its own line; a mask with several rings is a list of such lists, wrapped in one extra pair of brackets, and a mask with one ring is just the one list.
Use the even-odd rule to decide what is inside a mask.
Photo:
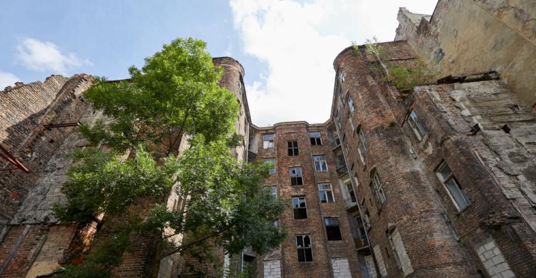
[(66, 71), (72, 68), (92, 65), (87, 59), (76, 56), (76, 53), (61, 53), (56, 44), (35, 38), (24, 38), (16, 46), (16, 58), (31, 70), (54, 71), (61, 74), (66, 74)]

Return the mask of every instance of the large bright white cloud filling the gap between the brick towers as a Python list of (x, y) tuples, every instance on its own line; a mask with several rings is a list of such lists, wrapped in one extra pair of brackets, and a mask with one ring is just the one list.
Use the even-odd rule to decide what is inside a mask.
[[(247, 84), (256, 125), (329, 118), (333, 60), (351, 41), (392, 41), (399, 6), (431, 14), (430, 0), (229, 0), (244, 51), (268, 72)], [(246, 68), (247, 71), (247, 68)]]

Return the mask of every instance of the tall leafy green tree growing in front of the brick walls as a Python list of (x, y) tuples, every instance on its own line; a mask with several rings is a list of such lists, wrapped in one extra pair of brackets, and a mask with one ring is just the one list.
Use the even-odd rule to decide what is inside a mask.
[[(54, 212), (62, 222), (81, 224), (104, 213), (107, 235), (84, 264), (66, 267), (65, 276), (109, 276), (140, 237), (157, 237), (158, 258), (209, 254), (214, 246), (262, 254), (284, 239), (284, 227), (274, 225), (283, 201), (262, 185), (270, 165), (232, 156), (240, 142), (233, 133), (239, 104), (218, 85), (222, 70), (205, 47), (179, 38), (146, 58), (142, 70), (131, 67), (129, 81), (97, 78), (84, 93), (106, 123), (82, 125), (81, 133), (106, 151), (74, 153), (62, 186), (66, 202), (55, 204)], [(189, 145), (179, 154), (182, 138)], [(167, 207), (172, 190), (185, 197), (184, 210)], [(153, 205), (140, 213), (138, 200)], [(184, 239), (174, 241), (174, 235)]]

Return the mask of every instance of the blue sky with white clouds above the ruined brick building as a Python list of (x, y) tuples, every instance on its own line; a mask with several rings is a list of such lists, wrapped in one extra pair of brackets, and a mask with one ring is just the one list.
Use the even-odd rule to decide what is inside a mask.
[[(337, 54), (354, 41), (392, 41), (397, 12), (432, 14), (435, 0), (1, 1), (0, 90), (51, 74), (128, 78), (127, 68), (178, 37), (207, 42), (246, 71), (258, 126), (329, 118)], [(1, 95), (0, 95), (1, 97)]]

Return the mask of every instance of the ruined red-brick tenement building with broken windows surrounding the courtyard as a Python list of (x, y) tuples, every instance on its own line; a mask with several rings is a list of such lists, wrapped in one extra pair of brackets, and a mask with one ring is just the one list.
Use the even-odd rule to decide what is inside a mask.
[[(508, 4), (512, 2), (515, 4)], [(395, 41), (334, 58), (325, 123), (258, 127), (244, 70), (221, 85), (241, 103), (242, 160), (274, 163), (265, 184), (288, 200), (279, 249), (244, 250), (262, 277), (536, 277), (536, 7), (530, 1), (444, 1), (431, 16), (400, 9)], [(385, 82), (385, 64), (423, 58), (435, 81)], [(90, 77), (51, 76), (1, 92), (0, 277), (51, 274), (89, 249), (99, 223), (56, 223), (76, 122), (99, 117), (81, 98)], [(247, 147), (247, 148), (246, 148)], [(177, 196), (170, 196), (173, 204)], [(144, 277), (151, 244), (125, 254), (118, 277)], [(159, 264), (177, 277), (182, 258)], [(229, 264), (229, 259), (225, 259)]]

